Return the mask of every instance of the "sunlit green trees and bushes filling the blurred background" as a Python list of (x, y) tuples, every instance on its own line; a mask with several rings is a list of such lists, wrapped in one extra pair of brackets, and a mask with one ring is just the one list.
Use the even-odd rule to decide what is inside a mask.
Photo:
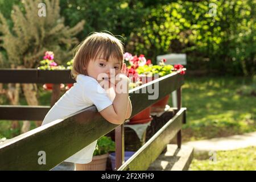
[[(10, 28), (10, 16), (16, 14), (10, 14), (10, 6), (18, 5), (24, 13), (22, 2), (0, 1), (1, 13)], [(216, 16), (209, 14), (210, 3), (216, 4)], [(186, 53), (189, 70), (247, 76), (255, 74), (256, 68), (255, 7), (255, 1), (251, 0), (60, 0), (60, 15), (69, 27), (86, 21), (77, 34), (80, 41), (90, 32), (108, 30), (124, 37), (120, 39), (125, 42), (127, 52), (143, 53), (152, 63), (157, 55)], [(48, 42), (55, 44), (57, 40), (44, 40)], [(60, 52), (65, 52), (63, 47), (66, 46)], [(3, 53), (2, 59), (6, 56)]]

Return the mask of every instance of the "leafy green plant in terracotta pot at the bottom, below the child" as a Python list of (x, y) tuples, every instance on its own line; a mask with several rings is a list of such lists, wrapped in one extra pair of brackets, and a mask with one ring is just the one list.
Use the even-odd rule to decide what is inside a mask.
[(109, 152), (112, 151), (115, 151), (115, 142), (110, 137), (101, 137), (97, 140), (92, 162), (76, 164), (76, 171), (105, 171)]

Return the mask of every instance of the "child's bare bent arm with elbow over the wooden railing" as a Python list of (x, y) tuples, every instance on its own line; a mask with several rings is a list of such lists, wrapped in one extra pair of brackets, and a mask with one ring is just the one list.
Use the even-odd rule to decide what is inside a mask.
[(115, 125), (121, 125), (125, 121), (127, 110), (129, 108), (129, 78), (125, 75), (121, 75), (120, 78), (122, 84), (127, 85), (125, 90), (126, 92), (115, 92), (113, 104), (100, 111), (102, 117)]

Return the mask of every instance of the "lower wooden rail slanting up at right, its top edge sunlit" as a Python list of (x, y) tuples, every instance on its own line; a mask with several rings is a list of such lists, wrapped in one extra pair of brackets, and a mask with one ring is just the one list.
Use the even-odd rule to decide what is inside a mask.
[(150, 140), (148, 140), (130, 159), (128, 159), (118, 171), (131, 170), (143, 171), (146, 170), (152, 162), (161, 154), (166, 145), (177, 132), (181, 129), (184, 111), (182, 107), (175, 116), (170, 119)]

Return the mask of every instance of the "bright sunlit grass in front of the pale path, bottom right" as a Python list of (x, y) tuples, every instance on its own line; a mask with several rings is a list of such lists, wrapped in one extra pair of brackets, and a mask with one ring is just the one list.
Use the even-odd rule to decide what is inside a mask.
[(256, 147), (241, 148), (232, 151), (217, 151), (216, 160), (210, 160), (212, 154), (195, 154), (189, 170), (191, 171), (255, 171)]

